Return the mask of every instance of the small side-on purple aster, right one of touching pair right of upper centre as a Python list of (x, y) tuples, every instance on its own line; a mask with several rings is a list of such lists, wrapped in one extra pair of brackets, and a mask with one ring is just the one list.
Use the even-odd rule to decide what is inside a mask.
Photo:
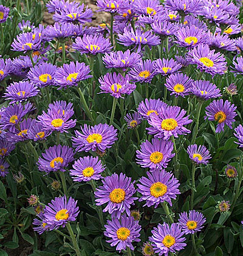
[(179, 71), (179, 69), (182, 67), (182, 64), (177, 63), (177, 61), (173, 60), (172, 58), (163, 58), (163, 60), (159, 58), (155, 61), (154, 67), (157, 73), (160, 73), (161, 75), (169, 75)]

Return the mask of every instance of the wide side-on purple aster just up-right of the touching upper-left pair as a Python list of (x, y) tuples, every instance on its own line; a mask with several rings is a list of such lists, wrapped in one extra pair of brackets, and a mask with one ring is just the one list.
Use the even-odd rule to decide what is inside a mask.
[(111, 52), (112, 49), (111, 41), (101, 35), (84, 35), (83, 38), (78, 36), (72, 47), (80, 54), (92, 55)]

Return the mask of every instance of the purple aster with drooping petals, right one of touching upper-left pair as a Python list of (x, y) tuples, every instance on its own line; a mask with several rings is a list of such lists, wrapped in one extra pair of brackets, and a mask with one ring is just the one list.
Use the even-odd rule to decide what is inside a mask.
[(89, 75), (90, 72), (89, 66), (86, 66), (83, 62), (76, 61), (75, 63), (71, 61), (70, 64), (63, 64), (63, 67), (58, 67), (55, 73), (55, 83), (60, 85), (58, 90), (77, 86), (79, 81), (92, 77), (92, 75)]

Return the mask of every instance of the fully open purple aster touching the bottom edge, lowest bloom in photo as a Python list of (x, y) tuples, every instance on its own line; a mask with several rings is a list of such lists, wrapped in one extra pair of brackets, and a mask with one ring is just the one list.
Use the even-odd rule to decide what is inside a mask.
[(165, 222), (163, 224), (159, 223), (151, 232), (152, 237), (149, 237), (149, 241), (154, 247), (154, 252), (159, 255), (168, 256), (169, 252), (176, 253), (187, 246), (186, 243), (183, 243), (186, 238), (182, 237), (185, 233), (179, 223), (172, 223), (171, 227)]

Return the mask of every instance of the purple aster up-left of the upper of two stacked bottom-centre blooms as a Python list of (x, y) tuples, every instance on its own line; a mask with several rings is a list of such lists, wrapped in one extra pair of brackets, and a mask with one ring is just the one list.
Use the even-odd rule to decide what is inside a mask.
[(106, 167), (101, 164), (98, 156), (84, 156), (75, 161), (72, 168), (74, 168), (74, 170), (70, 170), (69, 175), (74, 181), (81, 182), (101, 179), (101, 173)]

